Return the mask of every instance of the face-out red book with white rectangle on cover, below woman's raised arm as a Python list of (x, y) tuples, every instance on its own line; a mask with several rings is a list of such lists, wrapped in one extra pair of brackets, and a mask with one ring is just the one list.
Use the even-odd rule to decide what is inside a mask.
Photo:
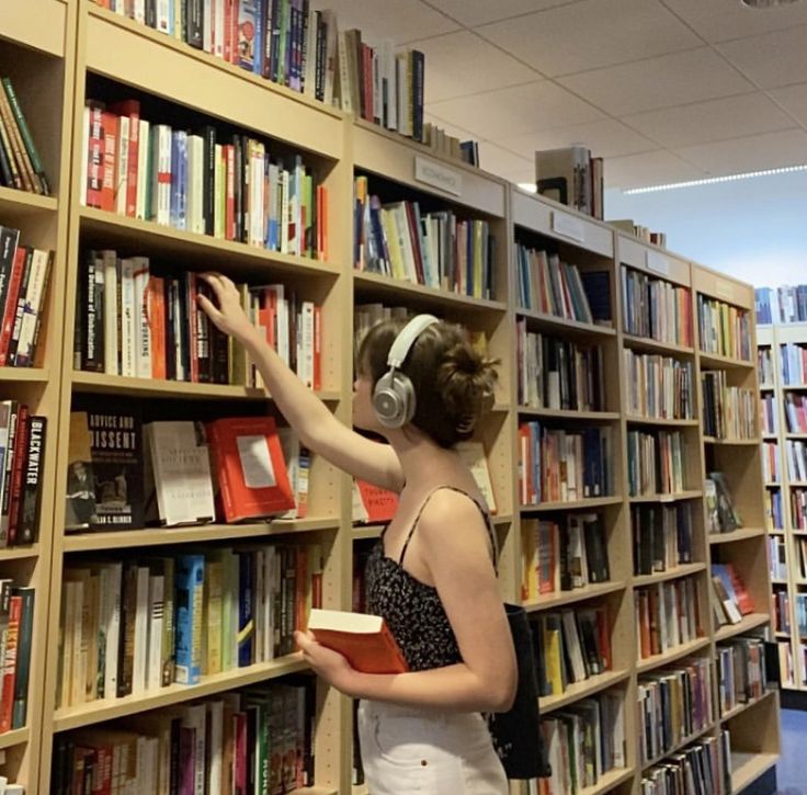
[(259, 519), (294, 508), (272, 417), (215, 420), (207, 432), (225, 521)]

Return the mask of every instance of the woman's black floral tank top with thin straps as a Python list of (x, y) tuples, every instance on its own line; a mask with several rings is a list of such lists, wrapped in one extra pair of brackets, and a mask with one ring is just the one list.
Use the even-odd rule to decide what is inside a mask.
[(451, 489), (465, 495), (477, 506), (490, 535), (496, 566), (496, 536), (490, 514), (470, 495), (452, 486), (440, 486), (423, 500), (398, 560), (384, 554), (384, 534), (382, 534), (367, 558), (365, 568), (367, 612), (384, 616), (411, 671), (425, 671), (463, 661), (437, 589), (421, 582), (404, 568), (404, 555), (418, 526), (420, 514), (432, 495), (440, 489)]

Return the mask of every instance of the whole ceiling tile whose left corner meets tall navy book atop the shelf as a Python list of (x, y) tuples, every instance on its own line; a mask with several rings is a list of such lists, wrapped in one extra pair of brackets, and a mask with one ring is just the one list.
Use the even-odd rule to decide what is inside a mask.
[(430, 103), (429, 111), (489, 140), (603, 116), (548, 80)]

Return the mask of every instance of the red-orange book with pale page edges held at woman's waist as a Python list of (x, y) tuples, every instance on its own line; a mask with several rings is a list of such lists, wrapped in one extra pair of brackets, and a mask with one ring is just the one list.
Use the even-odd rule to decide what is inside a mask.
[(308, 629), (322, 646), (344, 655), (362, 673), (404, 673), (404, 654), (384, 618), (366, 613), (311, 609)]

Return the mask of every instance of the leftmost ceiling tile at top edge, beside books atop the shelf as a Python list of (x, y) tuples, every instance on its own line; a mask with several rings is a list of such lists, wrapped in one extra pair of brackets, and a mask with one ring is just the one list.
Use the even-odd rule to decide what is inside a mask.
[(370, 44), (382, 38), (402, 44), (422, 37), (423, 31), (436, 36), (459, 27), (420, 0), (328, 0), (321, 8), (337, 13), (340, 31), (357, 27)]

